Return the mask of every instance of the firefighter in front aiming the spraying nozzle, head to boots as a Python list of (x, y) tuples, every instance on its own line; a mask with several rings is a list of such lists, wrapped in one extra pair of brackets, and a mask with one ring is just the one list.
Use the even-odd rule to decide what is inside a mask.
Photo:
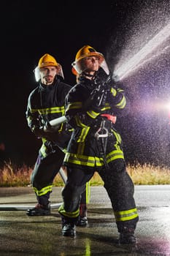
[(66, 96), (66, 118), (74, 128), (64, 165), (68, 180), (58, 209), (63, 236), (74, 236), (85, 183), (98, 171), (104, 181), (115, 214), (120, 244), (135, 244), (139, 216), (134, 201), (134, 184), (125, 168), (116, 115), (125, 113), (123, 89), (112, 80), (103, 54), (89, 45), (82, 47), (72, 64), (77, 84)]

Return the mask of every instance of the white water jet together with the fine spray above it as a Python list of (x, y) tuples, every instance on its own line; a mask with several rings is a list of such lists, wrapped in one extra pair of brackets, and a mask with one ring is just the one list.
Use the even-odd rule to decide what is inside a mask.
[[(170, 36), (170, 1), (148, 1), (138, 13), (131, 13), (130, 29), (125, 31), (124, 44), (115, 64), (114, 73), (122, 80), (142, 61), (152, 61), (169, 48), (165, 41)], [(133, 12), (133, 10), (131, 11)], [(156, 51), (154, 51), (156, 50)], [(127, 72), (125, 74), (125, 72)]]

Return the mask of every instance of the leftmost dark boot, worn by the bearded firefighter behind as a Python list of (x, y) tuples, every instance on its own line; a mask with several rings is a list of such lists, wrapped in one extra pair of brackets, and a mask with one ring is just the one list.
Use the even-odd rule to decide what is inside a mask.
[(50, 203), (47, 206), (43, 206), (37, 203), (34, 208), (28, 209), (26, 211), (28, 216), (47, 216), (50, 215)]

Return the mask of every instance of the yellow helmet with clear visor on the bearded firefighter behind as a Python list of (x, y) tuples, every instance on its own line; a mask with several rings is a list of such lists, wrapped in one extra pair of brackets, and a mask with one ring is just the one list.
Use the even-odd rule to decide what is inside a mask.
[(42, 58), (39, 59), (38, 66), (34, 69), (34, 75), (36, 78), (36, 82), (38, 82), (40, 79), (41, 67), (49, 67), (49, 66), (56, 67), (58, 69), (57, 75), (60, 75), (64, 79), (63, 69), (61, 67), (61, 64), (59, 64), (53, 56), (51, 56), (48, 53), (45, 53), (45, 55), (43, 55)]

